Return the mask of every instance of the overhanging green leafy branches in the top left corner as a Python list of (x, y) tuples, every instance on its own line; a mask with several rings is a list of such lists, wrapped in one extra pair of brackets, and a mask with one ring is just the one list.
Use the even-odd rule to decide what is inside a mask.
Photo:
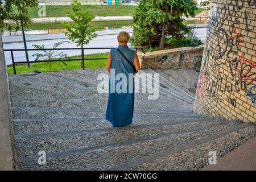
[[(11, 24), (16, 24), (16, 31), (20, 29), (21, 22), (23, 26), (31, 24), (31, 19), (28, 16), (28, 8), (37, 7), (37, 0), (0, 0), (0, 30), (4, 28), (11, 31)], [(22, 12), (22, 14), (19, 13)]]

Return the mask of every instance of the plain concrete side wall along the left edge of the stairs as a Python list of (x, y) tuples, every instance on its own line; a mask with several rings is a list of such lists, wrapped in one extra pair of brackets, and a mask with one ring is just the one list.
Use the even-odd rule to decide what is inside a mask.
[(8, 75), (0, 34), (0, 170), (19, 169), (11, 115)]

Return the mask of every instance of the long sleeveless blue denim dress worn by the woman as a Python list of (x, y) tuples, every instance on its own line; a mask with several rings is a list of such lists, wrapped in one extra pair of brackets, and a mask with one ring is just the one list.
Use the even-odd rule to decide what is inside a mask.
[[(135, 50), (130, 49), (128, 46), (119, 45), (118, 49), (133, 63)], [(114, 73), (110, 71), (109, 77), (109, 100), (106, 109), (106, 119), (112, 123), (113, 127), (121, 127), (130, 125), (133, 121), (134, 110), (134, 77), (133, 68), (127, 63), (125, 58), (117, 51), (112, 49), (111, 51), (111, 65), (110, 69), (114, 69)], [(118, 73), (123, 73), (119, 74)], [(131, 73), (129, 75), (129, 73)], [(123, 78), (120, 75), (126, 76), (127, 84), (118, 84)], [(129, 79), (130, 78), (130, 79)], [(125, 81), (124, 81), (125, 82)], [(123, 82), (123, 83), (124, 83)], [(122, 85), (122, 86), (120, 86)], [(125, 89), (126, 87), (126, 89)], [(125, 89), (125, 92), (121, 92), (115, 89)], [(114, 90), (114, 93), (113, 93)], [(112, 91), (112, 92), (111, 92)]]

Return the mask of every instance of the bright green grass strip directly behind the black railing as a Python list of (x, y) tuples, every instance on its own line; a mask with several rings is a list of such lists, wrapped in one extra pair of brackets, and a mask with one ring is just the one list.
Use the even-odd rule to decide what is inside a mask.
[[(85, 55), (85, 58), (100, 58), (108, 57), (108, 52), (106, 53), (96, 53), (92, 55)], [(72, 59), (81, 59), (81, 56), (72, 56)], [(27, 64), (18, 65), (16, 64), (16, 73), (27, 73), (34, 72), (35, 70), (41, 72), (56, 72), (63, 69), (81, 69), (81, 61), (65, 61), (67, 65), (64, 65), (61, 62), (51, 62), (51, 63), (32, 63), (30, 68), (27, 68)], [(51, 65), (51, 69), (50, 69)], [(106, 59), (104, 60), (85, 60), (85, 68), (104, 68), (106, 67)], [(13, 66), (7, 68), (8, 73), (13, 74)]]

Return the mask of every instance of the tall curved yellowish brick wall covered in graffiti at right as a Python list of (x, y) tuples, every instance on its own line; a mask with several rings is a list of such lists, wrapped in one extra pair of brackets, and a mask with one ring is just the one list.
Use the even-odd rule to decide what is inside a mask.
[(256, 121), (256, 1), (213, 0), (193, 111)]

